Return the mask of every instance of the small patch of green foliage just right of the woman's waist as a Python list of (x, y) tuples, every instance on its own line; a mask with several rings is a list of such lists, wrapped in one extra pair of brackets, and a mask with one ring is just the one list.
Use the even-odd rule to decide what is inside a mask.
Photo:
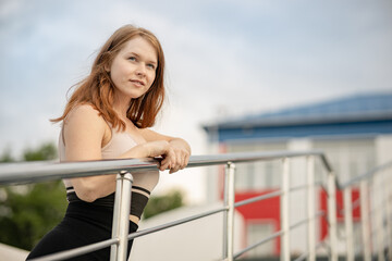
[(183, 206), (183, 194), (180, 190), (172, 190), (163, 196), (154, 196), (149, 199), (145, 211), (143, 212), (143, 217), (149, 219), (164, 211), (173, 210)]

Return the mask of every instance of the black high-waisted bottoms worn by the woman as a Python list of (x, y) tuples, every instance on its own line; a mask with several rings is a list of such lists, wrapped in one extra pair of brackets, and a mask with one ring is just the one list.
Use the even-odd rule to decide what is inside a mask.
[[(107, 240), (111, 238), (113, 210), (84, 201), (70, 202), (62, 222), (35, 246), (28, 259), (38, 258), (72, 248)], [(130, 233), (136, 232), (137, 225), (130, 221)], [(133, 240), (128, 241), (130, 256)], [(109, 260), (110, 247), (74, 257), (66, 260), (93, 261)]]

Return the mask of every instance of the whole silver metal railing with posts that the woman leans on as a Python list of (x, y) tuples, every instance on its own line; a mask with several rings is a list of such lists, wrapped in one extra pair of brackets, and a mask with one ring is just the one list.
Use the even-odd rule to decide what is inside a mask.
[[(307, 182), (305, 186), (290, 187), (290, 161), (292, 158), (306, 158), (307, 160)], [(315, 187), (320, 184), (315, 183), (315, 158), (319, 158), (324, 170), (327, 171), (327, 200), (328, 200), (328, 213), (316, 212), (315, 209)], [(268, 195), (258, 196), (252, 199), (246, 199), (240, 202), (234, 202), (234, 175), (235, 164), (242, 162), (255, 162), (255, 161), (270, 161), (281, 159), (283, 164), (281, 189), (270, 192)], [(156, 227), (143, 229), (136, 233), (127, 235), (128, 226), (128, 213), (131, 202), (131, 188), (132, 188), (132, 172), (134, 171), (148, 171), (157, 170), (157, 160), (103, 160), (103, 161), (85, 161), (85, 162), (68, 162), (68, 163), (19, 163), (19, 164), (3, 164), (0, 165), (0, 185), (14, 185), (23, 183), (36, 183), (44, 181), (52, 181), (60, 178), (81, 177), (81, 176), (93, 176), (93, 175), (107, 175), (117, 174), (117, 192), (113, 211), (113, 227), (112, 238), (108, 240), (91, 244), (88, 246), (79, 247), (72, 250), (66, 250), (58, 253), (48, 254), (41, 258), (34, 259), (35, 261), (44, 260), (63, 260), (66, 258), (81, 256), (87, 252), (91, 252), (98, 249), (111, 247), (111, 260), (125, 260), (127, 241), (147, 234), (151, 234), (158, 231), (162, 231), (172, 226), (181, 225), (197, 219), (209, 216), (216, 213), (223, 212), (223, 254), (222, 260), (234, 260), (243, 253), (269, 241), (274, 238), (281, 238), (281, 260), (287, 261), (291, 258), (290, 253), (290, 235), (291, 231), (299, 225), (307, 224), (307, 252), (304, 252), (296, 260), (316, 260), (316, 250), (322, 245), (328, 245), (330, 260), (338, 260), (338, 234), (336, 234), (336, 189), (344, 190), (344, 216), (346, 227), (346, 246), (347, 246), (347, 260), (354, 260), (354, 248), (353, 248), (353, 219), (351, 211), (353, 204), (351, 200), (351, 188), (360, 183), (360, 211), (362, 211), (362, 223), (363, 225), (363, 238), (364, 238), (364, 257), (365, 260), (370, 260), (371, 257), (371, 241), (370, 239), (370, 221), (368, 211), (368, 179), (372, 179), (376, 173), (382, 172), (388, 167), (392, 166), (392, 162), (377, 167), (355, 179), (352, 179), (345, 184), (340, 184), (336, 176), (329, 164), (327, 158), (322, 151), (274, 151), (274, 152), (246, 152), (246, 153), (226, 153), (226, 154), (215, 154), (215, 156), (192, 156), (187, 167), (198, 167), (208, 165), (225, 165), (225, 178), (224, 178), (224, 203), (221, 208), (198, 213), (193, 216), (173, 221), (167, 224), (162, 224)], [(384, 183), (388, 184), (388, 183)], [(389, 183), (391, 184), (391, 183)], [(290, 224), (290, 194), (297, 189), (307, 190), (307, 217), (298, 221), (295, 224)], [(387, 196), (383, 200), (388, 203), (391, 202), (391, 189), (387, 187)], [(265, 200), (272, 197), (280, 197), (280, 220), (281, 229), (273, 233), (267, 238), (260, 239), (260, 241), (248, 246), (238, 252), (234, 252), (234, 210), (244, 204), (254, 203), (260, 200)], [(382, 201), (384, 202), (384, 201)], [(379, 210), (377, 210), (379, 211)], [(378, 221), (377, 238), (378, 243), (382, 244), (382, 247), (378, 249), (379, 260), (382, 260), (382, 251), (387, 246), (391, 246), (392, 231), (391, 231), (391, 206), (388, 207), (385, 214), (380, 211), (376, 212)], [(324, 216), (328, 220), (328, 233), (329, 241), (318, 243), (316, 241), (316, 219)], [(387, 220), (388, 236), (380, 235), (382, 233), (383, 219)]]

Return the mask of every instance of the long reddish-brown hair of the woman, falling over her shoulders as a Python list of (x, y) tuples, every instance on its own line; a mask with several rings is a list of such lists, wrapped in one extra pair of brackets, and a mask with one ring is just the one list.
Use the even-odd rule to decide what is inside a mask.
[(68, 101), (63, 114), (50, 121), (64, 121), (73, 108), (87, 103), (98, 110), (112, 127), (124, 130), (125, 123), (113, 110), (115, 87), (110, 78), (110, 72), (107, 72), (106, 69), (110, 67), (124, 45), (137, 36), (143, 37), (156, 49), (158, 66), (151, 87), (145, 95), (131, 100), (126, 116), (139, 128), (152, 126), (164, 100), (164, 55), (159, 40), (151, 32), (133, 25), (119, 28), (107, 40), (93, 63), (90, 74), (76, 85), (77, 87)]

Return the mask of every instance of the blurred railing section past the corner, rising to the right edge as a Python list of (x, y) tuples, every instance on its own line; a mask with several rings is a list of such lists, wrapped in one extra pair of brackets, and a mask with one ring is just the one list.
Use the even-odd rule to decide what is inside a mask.
[[(392, 162), (379, 165), (344, 184), (338, 183), (338, 188), (343, 191), (344, 208), (340, 212), (343, 212), (344, 216), (347, 261), (354, 261), (358, 254), (365, 261), (375, 257), (377, 260), (392, 260), (392, 175), (388, 175), (391, 174), (387, 172), (389, 169), (392, 169)], [(352, 190), (358, 185), (359, 199), (353, 202)], [(377, 191), (369, 195), (371, 187), (377, 188)], [(369, 209), (371, 206), (376, 206), (373, 211)], [(362, 253), (354, 252), (353, 211), (357, 208), (360, 208)], [(371, 234), (376, 235), (375, 240)]]

